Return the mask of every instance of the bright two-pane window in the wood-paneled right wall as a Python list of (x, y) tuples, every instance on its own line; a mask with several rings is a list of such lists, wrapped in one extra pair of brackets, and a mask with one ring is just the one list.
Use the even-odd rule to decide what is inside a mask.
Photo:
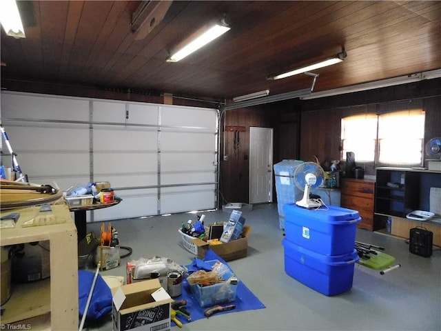
[(342, 159), (354, 152), (357, 161), (374, 165), (422, 164), (424, 110), (358, 114), (341, 121)]

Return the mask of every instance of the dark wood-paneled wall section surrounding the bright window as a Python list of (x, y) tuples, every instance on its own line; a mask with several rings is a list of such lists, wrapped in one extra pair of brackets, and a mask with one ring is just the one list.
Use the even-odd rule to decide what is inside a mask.
[[(340, 119), (351, 114), (421, 107), (426, 112), (424, 140), (441, 136), (441, 79), (321, 100), (321, 103), (320, 99), (300, 101), (302, 160), (310, 159), (311, 155), (317, 155), (320, 162), (340, 159)], [(375, 174), (373, 165), (358, 165), (365, 168), (365, 174)]]

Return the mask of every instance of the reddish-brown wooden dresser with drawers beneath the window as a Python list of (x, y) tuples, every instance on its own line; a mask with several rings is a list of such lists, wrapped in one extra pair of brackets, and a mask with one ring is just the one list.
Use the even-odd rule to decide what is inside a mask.
[(381, 228), (373, 220), (374, 193), (375, 181), (372, 179), (344, 178), (341, 181), (340, 205), (360, 213), (362, 220), (357, 224), (358, 228), (370, 231)]

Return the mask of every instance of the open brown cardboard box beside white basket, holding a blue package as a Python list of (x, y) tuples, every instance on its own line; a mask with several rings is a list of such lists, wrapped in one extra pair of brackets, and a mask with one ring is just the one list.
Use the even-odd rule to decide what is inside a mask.
[(203, 259), (207, 250), (211, 249), (225, 261), (231, 261), (247, 256), (248, 236), (251, 230), (251, 226), (244, 225), (241, 238), (230, 241), (229, 243), (222, 243), (220, 245), (210, 245), (209, 243), (207, 243), (207, 241), (203, 241), (202, 239), (198, 238), (193, 239), (192, 242), (196, 244), (198, 248), (199, 259)]

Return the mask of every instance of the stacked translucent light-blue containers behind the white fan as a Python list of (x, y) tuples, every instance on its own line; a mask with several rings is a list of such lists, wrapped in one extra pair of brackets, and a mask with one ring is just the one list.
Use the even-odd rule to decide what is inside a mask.
[(283, 206), (286, 203), (294, 203), (302, 199), (303, 191), (294, 183), (294, 171), (298, 165), (304, 163), (299, 160), (283, 160), (274, 165), (274, 177), (276, 177), (277, 210), (280, 229), (285, 230), (285, 212)]

